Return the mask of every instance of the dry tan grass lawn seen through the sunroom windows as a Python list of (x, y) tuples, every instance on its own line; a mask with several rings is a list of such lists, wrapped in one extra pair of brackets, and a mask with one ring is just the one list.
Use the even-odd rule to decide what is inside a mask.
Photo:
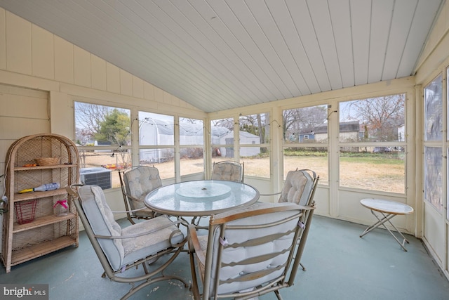
[[(91, 154), (91, 153), (89, 153)], [(293, 155), (292, 155), (293, 154)], [(213, 157), (213, 162), (232, 159)], [(89, 155), (85, 159), (85, 167), (101, 167), (115, 164), (116, 157), (109, 155)], [(269, 157), (242, 157), (245, 163), (245, 176), (269, 178)], [(288, 153), (283, 159), (284, 178), (288, 171), (295, 169), (311, 169), (320, 176), (320, 184), (328, 185), (328, 156), (326, 152)], [(81, 166), (83, 167), (83, 166)], [(175, 172), (173, 161), (154, 164), (159, 169), (161, 178), (171, 178)], [(203, 171), (203, 159), (181, 159), (181, 175)], [(380, 190), (393, 193), (404, 193), (406, 167), (401, 153), (342, 152), (340, 156), (340, 186)], [(112, 170), (112, 186), (119, 187), (119, 176)]]

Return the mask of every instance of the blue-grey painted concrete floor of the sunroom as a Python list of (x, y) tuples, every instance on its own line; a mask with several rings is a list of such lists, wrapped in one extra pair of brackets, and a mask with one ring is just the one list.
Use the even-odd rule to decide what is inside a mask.
[[(125, 224), (126, 220), (121, 220)], [(366, 226), (314, 216), (293, 287), (281, 289), (283, 299), (448, 300), (449, 282), (427, 254), (422, 242), (406, 235), (404, 252), (387, 230), (363, 238)], [(189, 259), (180, 254), (168, 268), (191, 281)], [(102, 268), (86, 235), (69, 247), (39, 259), (0, 270), (1, 283), (48, 284), (49, 299), (120, 299), (128, 285), (101, 278)], [(1, 297), (0, 297), (1, 298)], [(24, 298), (22, 298), (24, 299)], [(157, 282), (130, 299), (193, 299), (180, 282)], [(260, 299), (276, 299), (271, 293)]]

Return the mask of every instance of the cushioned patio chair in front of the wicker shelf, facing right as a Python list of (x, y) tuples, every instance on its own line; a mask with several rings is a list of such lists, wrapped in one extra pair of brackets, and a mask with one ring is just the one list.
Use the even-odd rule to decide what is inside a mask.
[[(98, 185), (83, 185), (77, 190), (74, 186), (67, 187), (67, 192), (74, 197), (79, 218), (105, 270), (102, 276), (131, 285), (121, 299), (127, 299), (140, 289), (161, 280), (180, 280), (185, 287), (188, 286), (180, 277), (163, 274), (163, 270), (180, 254), (187, 241), (187, 237), (177, 227), (180, 221), (173, 222), (164, 215), (121, 228), (114, 221), (105, 194)], [(161, 256), (165, 256), (166, 261), (157, 266), (152, 265)], [(128, 275), (125, 272), (139, 265), (143, 269), (141, 275)]]

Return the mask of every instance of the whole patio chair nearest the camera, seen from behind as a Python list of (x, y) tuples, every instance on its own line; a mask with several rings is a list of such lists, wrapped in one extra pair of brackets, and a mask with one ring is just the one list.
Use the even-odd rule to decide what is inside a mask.
[(313, 211), (258, 202), (210, 216), (208, 235), (197, 235), (189, 224), (194, 299), (250, 299), (269, 292), (282, 299), (279, 289), (294, 283)]

